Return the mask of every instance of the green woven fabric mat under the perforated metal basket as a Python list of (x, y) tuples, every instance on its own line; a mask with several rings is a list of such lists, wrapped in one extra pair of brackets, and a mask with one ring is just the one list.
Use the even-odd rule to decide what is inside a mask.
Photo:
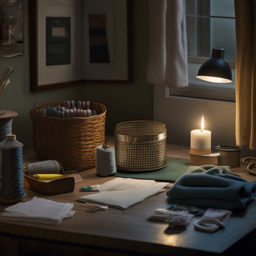
[(167, 157), (167, 166), (156, 171), (121, 171), (114, 176), (142, 180), (156, 180), (161, 182), (175, 182), (188, 171), (188, 159)]

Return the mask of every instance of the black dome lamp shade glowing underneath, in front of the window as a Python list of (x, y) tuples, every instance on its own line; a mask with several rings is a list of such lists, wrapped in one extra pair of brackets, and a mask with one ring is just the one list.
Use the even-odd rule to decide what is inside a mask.
[(198, 70), (197, 78), (214, 83), (231, 83), (232, 72), (224, 60), (223, 48), (213, 48), (211, 58), (205, 61)]

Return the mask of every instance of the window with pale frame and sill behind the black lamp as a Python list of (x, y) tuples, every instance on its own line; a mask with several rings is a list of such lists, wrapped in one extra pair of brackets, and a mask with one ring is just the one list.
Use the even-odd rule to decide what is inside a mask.
[[(233, 0), (186, 0), (189, 86), (167, 89), (168, 96), (235, 101), (235, 15)], [(232, 83), (217, 84), (196, 78), (200, 64), (213, 47), (225, 49)]]

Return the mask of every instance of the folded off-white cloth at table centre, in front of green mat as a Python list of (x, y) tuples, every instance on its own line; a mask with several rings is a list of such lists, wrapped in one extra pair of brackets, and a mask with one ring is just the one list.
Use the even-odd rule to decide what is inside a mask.
[(78, 201), (126, 209), (149, 196), (156, 195), (169, 183), (153, 180), (116, 178), (98, 187), (98, 193), (84, 195)]

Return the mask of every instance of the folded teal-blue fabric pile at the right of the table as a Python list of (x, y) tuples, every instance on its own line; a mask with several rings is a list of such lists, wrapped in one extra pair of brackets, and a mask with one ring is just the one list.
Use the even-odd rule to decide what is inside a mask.
[(244, 209), (256, 198), (256, 183), (222, 174), (218, 167), (214, 167), (204, 173), (183, 175), (168, 190), (167, 196), (171, 204)]

